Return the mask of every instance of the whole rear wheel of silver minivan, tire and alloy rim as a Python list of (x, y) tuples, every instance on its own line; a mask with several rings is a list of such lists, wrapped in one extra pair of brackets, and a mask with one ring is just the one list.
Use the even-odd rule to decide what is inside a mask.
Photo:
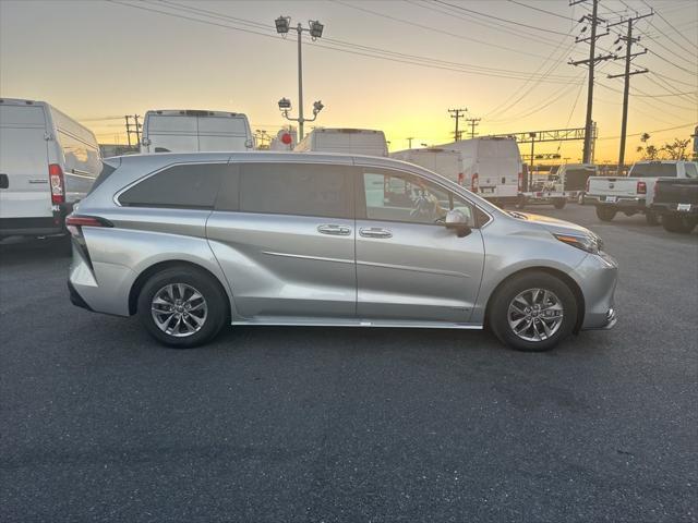
[(210, 276), (195, 268), (173, 267), (146, 281), (136, 314), (156, 340), (189, 349), (213, 340), (227, 311), (226, 296)]

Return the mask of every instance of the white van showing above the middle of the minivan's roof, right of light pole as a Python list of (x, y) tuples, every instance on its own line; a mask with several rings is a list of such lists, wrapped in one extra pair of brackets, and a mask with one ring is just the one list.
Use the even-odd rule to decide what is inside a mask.
[(316, 127), (301, 139), (293, 150), (388, 156), (388, 144), (383, 131)]

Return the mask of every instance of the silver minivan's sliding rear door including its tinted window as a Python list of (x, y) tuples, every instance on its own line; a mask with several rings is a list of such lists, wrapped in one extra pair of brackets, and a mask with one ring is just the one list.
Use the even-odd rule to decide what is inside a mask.
[(242, 319), (353, 320), (353, 183), (346, 167), (240, 163), (206, 234)]

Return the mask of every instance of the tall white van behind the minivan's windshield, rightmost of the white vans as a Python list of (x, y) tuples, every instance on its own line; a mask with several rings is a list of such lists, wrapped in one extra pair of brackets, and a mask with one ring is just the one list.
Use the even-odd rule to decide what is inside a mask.
[(515, 138), (483, 136), (440, 147), (461, 153), (464, 185), (473, 193), (500, 204), (518, 200), (524, 166)]

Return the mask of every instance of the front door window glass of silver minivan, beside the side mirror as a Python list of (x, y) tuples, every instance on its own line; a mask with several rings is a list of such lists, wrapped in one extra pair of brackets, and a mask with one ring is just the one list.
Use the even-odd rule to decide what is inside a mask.
[(460, 196), (422, 178), (397, 171), (364, 172), (366, 218), (380, 221), (440, 223), (452, 209), (474, 224), (472, 206)]

